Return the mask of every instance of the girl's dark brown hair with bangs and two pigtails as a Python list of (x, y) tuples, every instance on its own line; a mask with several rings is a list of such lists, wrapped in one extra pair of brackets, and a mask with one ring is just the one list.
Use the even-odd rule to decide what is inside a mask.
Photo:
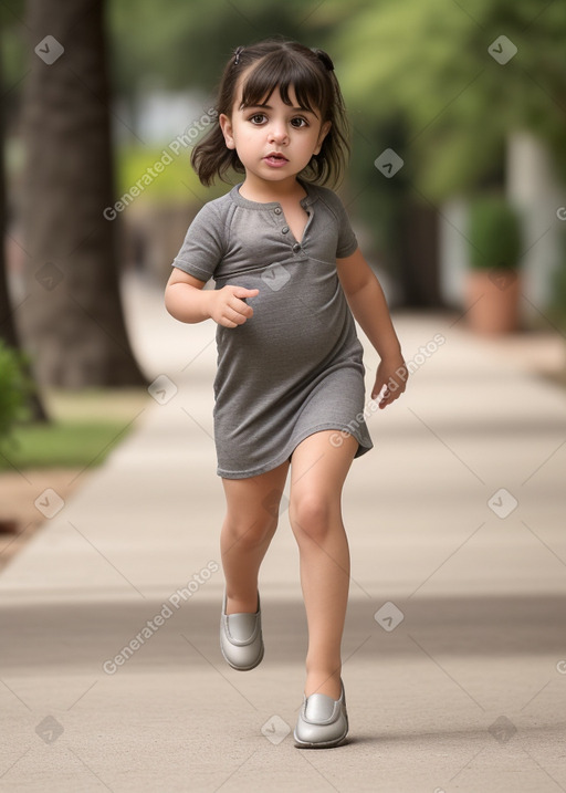
[[(328, 181), (336, 185), (343, 176), (349, 144), (344, 100), (331, 58), (323, 50), (310, 50), (297, 42), (279, 39), (239, 46), (220, 81), (216, 104), (218, 115), (231, 115), (238, 80), (254, 63), (255, 67), (250, 71), (242, 86), (242, 107), (261, 104), (275, 90), (279, 90), (283, 102), (291, 105), (289, 92), (293, 88), (302, 107), (316, 112), (321, 124), (331, 122), (321, 152), (312, 156), (301, 176), (318, 185)], [(207, 187), (217, 176), (227, 181), (224, 177), (230, 169), (245, 173), (237, 152), (227, 148), (219, 124), (195, 146), (191, 164)]]

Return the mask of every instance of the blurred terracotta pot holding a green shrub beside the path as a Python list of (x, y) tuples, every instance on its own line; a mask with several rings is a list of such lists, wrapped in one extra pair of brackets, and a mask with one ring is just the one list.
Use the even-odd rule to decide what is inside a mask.
[(521, 279), (513, 270), (471, 270), (465, 319), (476, 333), (500, 336), (518, 330)]

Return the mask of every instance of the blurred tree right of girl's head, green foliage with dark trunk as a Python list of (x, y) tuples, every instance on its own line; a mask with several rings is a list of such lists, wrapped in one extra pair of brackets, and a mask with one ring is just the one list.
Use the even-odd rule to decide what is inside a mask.
[[(539, 135), (566, 174), (565, 38), (560, 3), (350, 0), (331, 48), (363, 140), (355, 211), (376, 229), (407, 304), (439, 302), (437, 205), (502, 187), (513, 131)], [(374, 167), (387, 148), (403, 159), (390, 179)]]

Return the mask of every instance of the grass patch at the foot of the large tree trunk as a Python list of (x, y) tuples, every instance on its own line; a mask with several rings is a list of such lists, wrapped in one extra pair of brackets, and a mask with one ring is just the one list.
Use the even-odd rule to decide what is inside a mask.
[(15, 427), (0, 446), (0, 470), (90, 468), (129, 434), (148, 404), (145, 389), (44, 395), (50, 424)]

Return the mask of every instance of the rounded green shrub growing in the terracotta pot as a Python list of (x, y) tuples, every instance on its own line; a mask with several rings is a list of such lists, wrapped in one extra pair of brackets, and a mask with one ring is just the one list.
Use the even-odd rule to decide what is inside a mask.
[(471, 202), (468, 229), (470, 265), (476, 270), (515, 270), (521, 259), (521, 221), (503, 196)]

